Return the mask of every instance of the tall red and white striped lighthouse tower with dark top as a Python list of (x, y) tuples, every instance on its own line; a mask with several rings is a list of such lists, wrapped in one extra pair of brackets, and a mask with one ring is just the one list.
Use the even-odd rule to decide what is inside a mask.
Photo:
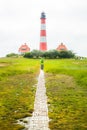
[(40, 51), (47, 50), (47, 41), (46, 41), (46, 15), (44, 12), (41, 13), (41, 30), (40, 30)]

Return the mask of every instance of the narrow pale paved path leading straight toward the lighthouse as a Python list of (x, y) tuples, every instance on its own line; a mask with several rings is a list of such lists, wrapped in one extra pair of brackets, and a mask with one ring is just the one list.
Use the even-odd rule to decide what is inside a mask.
[(34, 112), (30, 119), (28, 130), (50, 130), (48, 128), (48, 106), (45, 88), (44, 72), (40, 70), (35, 96)]

